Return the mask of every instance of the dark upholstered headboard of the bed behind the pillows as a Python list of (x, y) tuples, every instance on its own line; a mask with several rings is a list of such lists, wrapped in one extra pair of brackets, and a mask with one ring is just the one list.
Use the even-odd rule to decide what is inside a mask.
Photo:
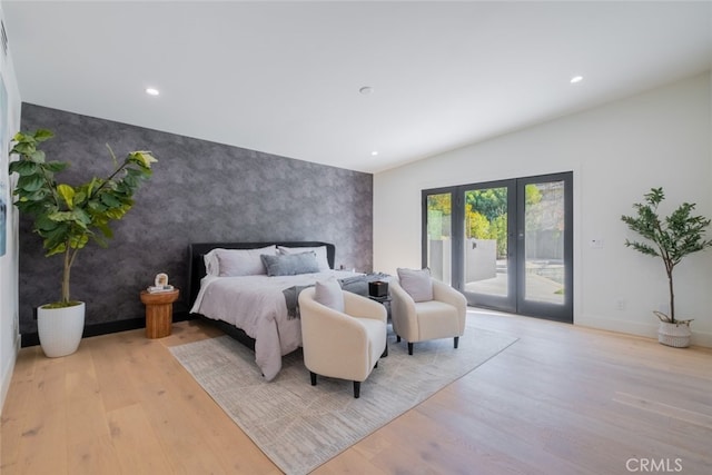
[(326, 257), (329, 267), (334, 268), (336, 256), (336, 247), (333, 244), (320, 241), (265, 241), (265, 243), (194, 243), (188, 246), (188, 309), (192, 307), (192, 303), (200, 290), (200, 279), (205, 277), (205, 259), (204, 256), (216, 248), (222, 249), (259, 249), (271, 245), (285, 247), (318, 247), (326, 246)]

